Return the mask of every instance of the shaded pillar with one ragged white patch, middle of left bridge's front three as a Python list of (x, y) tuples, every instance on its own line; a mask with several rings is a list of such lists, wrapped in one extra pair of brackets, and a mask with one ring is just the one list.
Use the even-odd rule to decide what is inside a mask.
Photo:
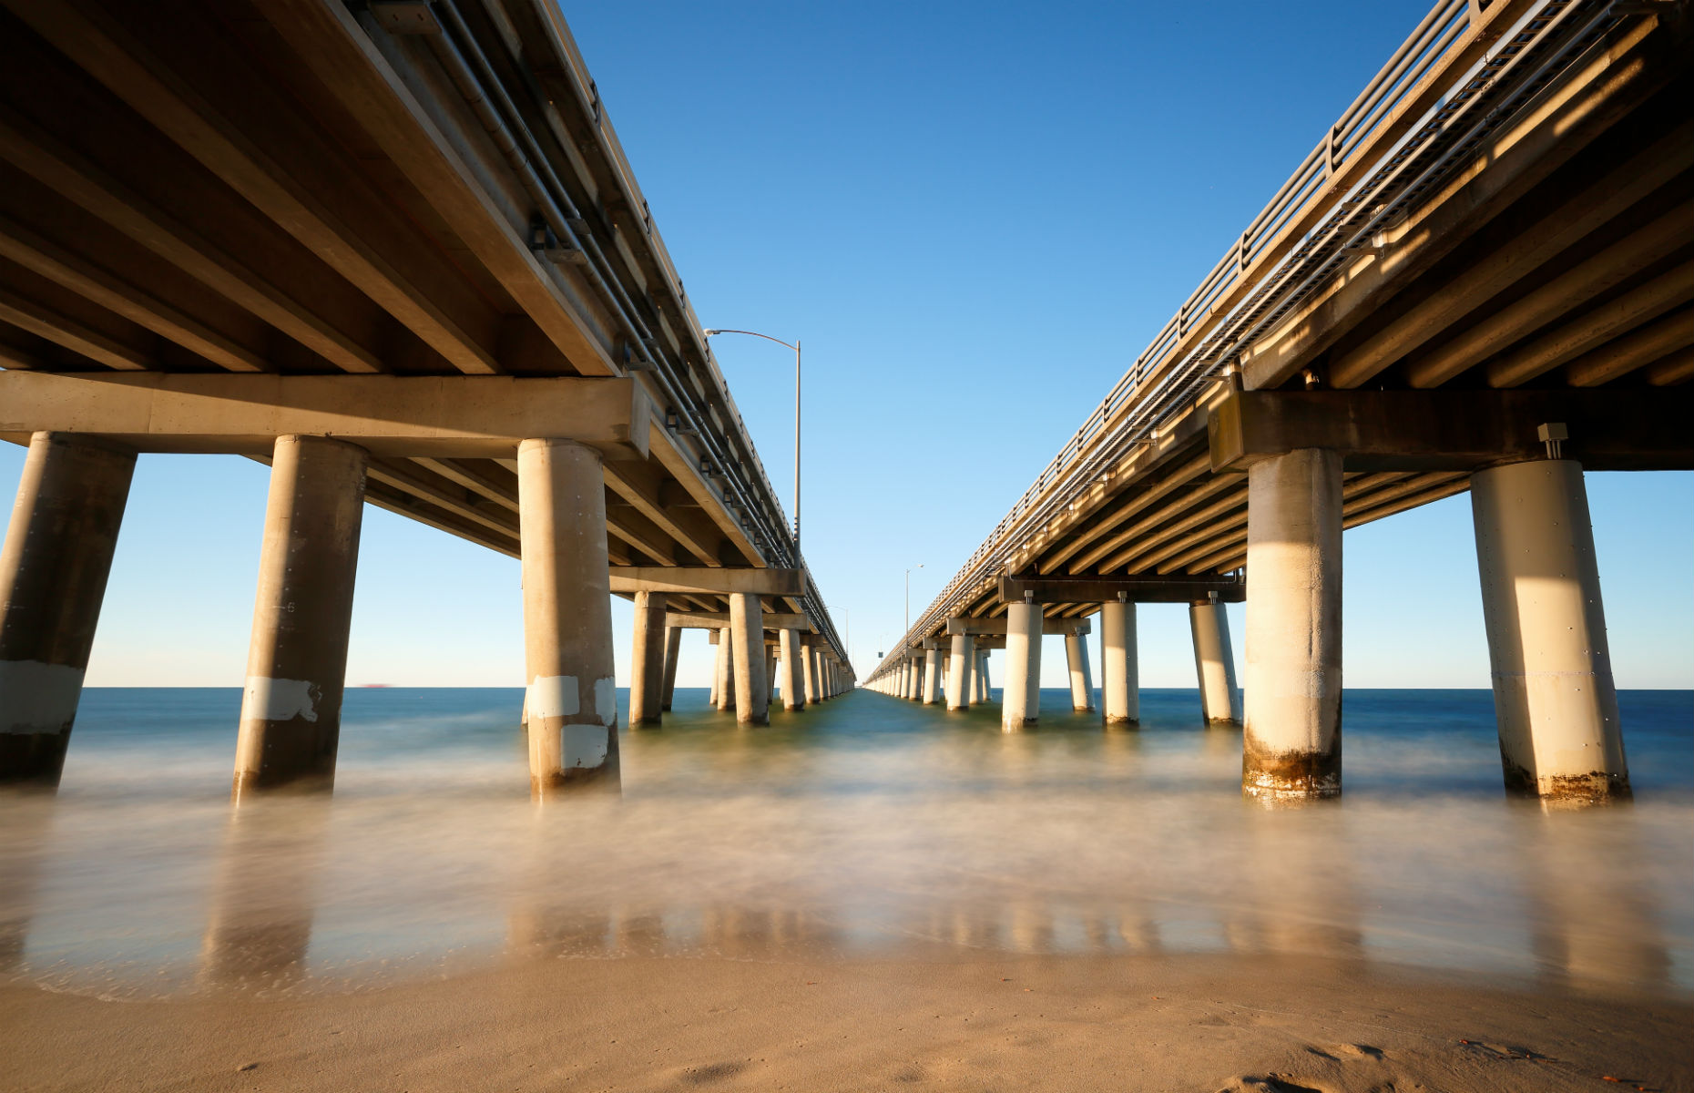
[(368, 463), (342, 441), (276, 439), (235, 737), (237, 805), (335, 783)]

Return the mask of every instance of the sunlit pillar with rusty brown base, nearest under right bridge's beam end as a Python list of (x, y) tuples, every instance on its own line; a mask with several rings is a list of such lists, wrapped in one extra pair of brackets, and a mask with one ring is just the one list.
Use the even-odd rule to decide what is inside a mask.
[(1342, 458), (1304, 447), (1247, 471), (1242, 791), (1342, 791)]

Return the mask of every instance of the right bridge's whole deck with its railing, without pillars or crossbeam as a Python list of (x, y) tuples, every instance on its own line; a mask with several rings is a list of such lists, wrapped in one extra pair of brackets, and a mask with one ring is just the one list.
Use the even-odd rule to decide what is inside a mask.
[[(1240, 569), (1245, 468), (1208, 434), (1242, 390), (1311, 390), (1338, 417), (1348, 391), (1406, 393), (1413, 420), (1374, 424), (1387, 447), (1425, 436), (1348, 456), (1345, 527), (1467, 490), (1481, 447), (1536, 446), (1535, 420), (1628, 413), (1604, 437), (1572, 429), (1567, 454), (1694, 466), (1691, 58), (1686, 5), (1438, 3), (893, 656), (949, 617), (1005, 613), (1003, 574)], [(1564, 417), (1506, 407), (1520, 388)], [(1528, 436), (1430, 459), (1453, 432), (1414, 395), (1435, 390)]]

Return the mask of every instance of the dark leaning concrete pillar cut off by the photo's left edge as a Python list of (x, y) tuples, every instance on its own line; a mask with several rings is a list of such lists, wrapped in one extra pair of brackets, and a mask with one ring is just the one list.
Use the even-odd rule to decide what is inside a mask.
[(0, 549), (0, 785), (59, 785), (134, 471), (134, 452), (29, 441)]

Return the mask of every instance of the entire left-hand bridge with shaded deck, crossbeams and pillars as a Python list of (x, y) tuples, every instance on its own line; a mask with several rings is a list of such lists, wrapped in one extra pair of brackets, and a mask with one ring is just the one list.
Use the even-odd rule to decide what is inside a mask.
[(271, 466), (237, 802), (332, 783), (364, 503), (522, 559), (539, 798), (618, 785), (612, 595), (632, 727), (684, 629), (742, 724), (852, 685), (549, 0), (0, 3), (0, 781), (58, 785), (139, 452)]

